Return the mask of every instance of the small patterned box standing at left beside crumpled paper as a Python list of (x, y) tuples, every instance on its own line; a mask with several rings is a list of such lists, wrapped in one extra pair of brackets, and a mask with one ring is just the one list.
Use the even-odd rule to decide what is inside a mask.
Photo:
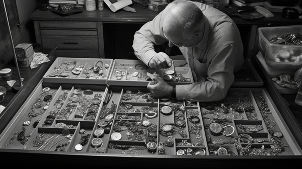
[(15, 47), (15, 51), (19, 67), (30, 66), (35, 53), (33, 45), (29, 43), (20, 43)]

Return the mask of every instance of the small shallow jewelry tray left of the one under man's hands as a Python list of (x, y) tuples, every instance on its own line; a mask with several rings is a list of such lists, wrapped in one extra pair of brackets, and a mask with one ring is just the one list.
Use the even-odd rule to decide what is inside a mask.
[(44, 82), (106, 85), (113, 59), (58, 57), (43, 76)]

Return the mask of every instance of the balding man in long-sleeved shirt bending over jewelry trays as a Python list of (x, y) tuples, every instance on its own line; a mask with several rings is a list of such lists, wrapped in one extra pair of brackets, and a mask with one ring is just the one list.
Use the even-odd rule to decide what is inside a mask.
[(153, 68), (169, 68), (170, 57), (155, 52), (154, 45), (169, 41), (178, 46), (198, 81), (190, 85), (170, 86), (159, 77), (148, 83), (155, 97), (169, 97), (191, 102), (223, 99), (240, 70), (243, 45), (234, 21), (224, 13), (198, 2), (177, 0), (135, 34), (135, 55)]

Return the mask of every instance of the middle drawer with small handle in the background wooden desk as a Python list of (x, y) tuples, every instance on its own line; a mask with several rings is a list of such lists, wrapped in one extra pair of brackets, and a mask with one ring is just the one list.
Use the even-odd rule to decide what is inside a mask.
[(86, 36), (42, 36), (43, 49), (77, 49), (77, 50), (98, 50), (98, 37)]

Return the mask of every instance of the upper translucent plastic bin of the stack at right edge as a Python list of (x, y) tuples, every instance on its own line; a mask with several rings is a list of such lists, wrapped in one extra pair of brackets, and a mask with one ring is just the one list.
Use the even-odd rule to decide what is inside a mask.
[(274, 69), (299, 69), (302, 66), (302, 45), (273, 44), (268, 40), (287, 34), (302, 34), (302, 25), (258, 28), (258, 31), (260, 52), (268, 65)]

